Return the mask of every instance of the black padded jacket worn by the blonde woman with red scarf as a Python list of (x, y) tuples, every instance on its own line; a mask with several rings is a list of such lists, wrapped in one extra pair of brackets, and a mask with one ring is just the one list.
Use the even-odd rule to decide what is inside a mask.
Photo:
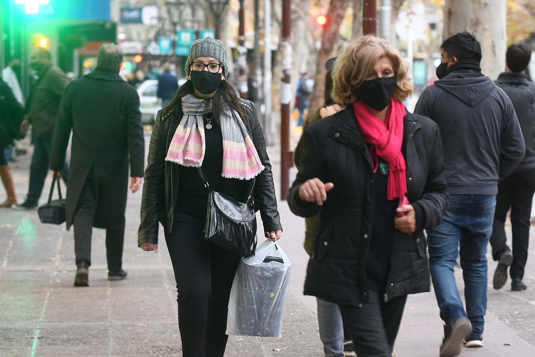
[[(429, 291), (423, 229), (438, 225), (448, 204), (437, 124), (407, 114), (402, 152), (407, 162), (407, 198), (415, 207), (417, 227), (413, 235), (394, 233), (386, 301)], [(304, 133), (302, 167), (288, 197), (290, 209), (301, 217), (311, 217), (319, 210), (318, 205), (299, 198), (301, 184), (314, 177), (334, 183), (334, 188), (322, 208), (304, 293), (339, 304), (360, 304), (368, 299), (366, 256), (372, 233), (373, 172), (353, 106), (311, 125)]]

